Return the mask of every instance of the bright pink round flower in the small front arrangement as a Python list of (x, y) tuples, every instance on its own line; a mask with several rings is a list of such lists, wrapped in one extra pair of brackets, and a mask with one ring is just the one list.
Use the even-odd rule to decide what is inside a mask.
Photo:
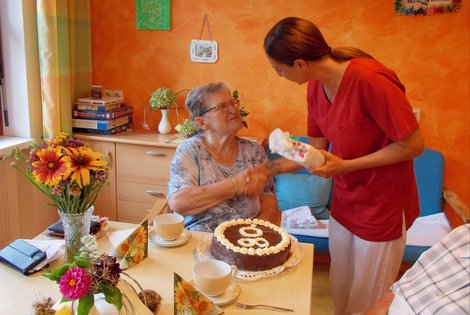
[(60, 292), (69, 300), (87, 295), (93, 282), (92, 276), (83, 268), (73, 266), (60, 278)]

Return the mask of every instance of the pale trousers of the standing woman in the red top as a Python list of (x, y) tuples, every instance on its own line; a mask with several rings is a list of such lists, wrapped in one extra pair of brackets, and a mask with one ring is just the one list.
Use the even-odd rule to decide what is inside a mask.
[(370, 242), (330, 217), (330, 288), (335, 314), (364, 314), (390, 290), (400, 270), (405, 242), (405, 224), (401, 238)]

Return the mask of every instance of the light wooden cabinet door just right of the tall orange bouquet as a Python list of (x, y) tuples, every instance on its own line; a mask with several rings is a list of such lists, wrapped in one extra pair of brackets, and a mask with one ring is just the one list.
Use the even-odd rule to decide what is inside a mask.
[(117, 220), (116, 211), (116, 149), (113, 142), (84, 140), (94, 151), (104, 153), (109, 158), (110, 169), (108, 184), (106, 184), (98, 194), (93, 204), (95, 210), (93, 214), (108, 217), (112, 221)]

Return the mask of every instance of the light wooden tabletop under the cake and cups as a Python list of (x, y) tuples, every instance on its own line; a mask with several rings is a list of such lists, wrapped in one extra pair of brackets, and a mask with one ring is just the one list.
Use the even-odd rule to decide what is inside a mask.
[[(132, 228), (128, 223), (111, 222), (108, 232)], [(195, 248), (208, 233), (191, 232), (190, 241), (180, 247), (162, 248), (149, 242), (149, 256), (140, 264), (126, 270), (139, 281), (144, 289), (153, 289), (162, 297), (161, 315), (173, 314), (173, 272), (183, 279), (192, 279), (192, 266), (195, 262)], [(241, 288), (237, 301), (247, 304), (271, 304), (292, 308), (294, 313), (310, 314), (312, 294), (313, 245), (300, 244), (303, 258), (299, 265), (280, 274), (254, 282), (238, 282)], [(106, 236), (98, 239), (101, 252), (110, 252), (112, 245)], [(55, 261), (51, 267), (61, 264)], [(54, 300), (61, 298), (58, 285), (42, 275), (44, 272), (29, 277), (0, 264), (0, 314), (30, 314), (31, 303), (38, 293)], [(266, 309), (239, 310), (234, 304), (223, 306), (225, 314), (279, 314)]]

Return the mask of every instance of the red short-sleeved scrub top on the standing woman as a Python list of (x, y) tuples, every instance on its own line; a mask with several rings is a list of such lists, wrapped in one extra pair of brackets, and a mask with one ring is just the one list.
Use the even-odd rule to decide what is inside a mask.
[[(342, 159), (373, 153), (419, 128), (396, 74), (373, 59), (350, 61), (331, 104), (322, 83), (308, 82), (308, 135), (325, 137)], [(413, 160), (337, 175), (331, 215), (368, 241), (389, 241), (419, 215)]]

